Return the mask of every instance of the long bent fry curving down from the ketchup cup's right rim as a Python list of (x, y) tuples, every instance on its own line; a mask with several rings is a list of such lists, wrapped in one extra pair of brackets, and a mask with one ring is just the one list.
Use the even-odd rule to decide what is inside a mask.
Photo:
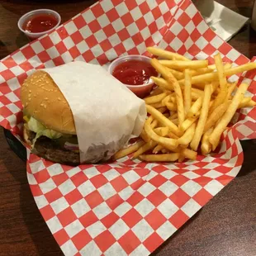
[(184, 119), (184, 105), (183, 105), (183, 92), (178, 84), (176, 78), (173, 77), (173, 73), (168, 72), (168, 69), (164, 69), (164, 66), (159, 63), (157, 59), (151, 59), (151, 65), (156, 69), (159, 73), (163, 75), (163, 77), (167, 80), (169, 84), (173, 85), (174, 92), (176, 93), (177, 99), (177, 108), (178, 108), (178, 122), (181, 124)]

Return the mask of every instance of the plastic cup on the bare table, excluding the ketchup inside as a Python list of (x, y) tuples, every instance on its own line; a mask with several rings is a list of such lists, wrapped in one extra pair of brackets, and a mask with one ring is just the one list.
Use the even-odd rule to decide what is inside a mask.
[[(22, 28), (24, 23), (26, 21), (28, 21), (31, 17), (35, 17), (36, 15), (39, 15), (39, 14), (51, 14), (51, 15), (53, 15), (57, 19), (56, 26), (54, 26), (53, 28), (51, 28), (48, 31), (43, 31), (43, 32), (39, 32), (39, 33), (31, 33), (29, 31), (25, 31)], [(44, 36), (45, 34), (49, 33), (50, 31), (55, 30), (55, 28), (59, 26), (60, 21), (61, 21), (61, 17), (60, 17), (58, 12), (55, 12), (54, 10), (50, 10), (50, 9), (37, 9), (37, 10), (31, 11), (31, 12), (26, 12), (26, 14), (24, 14), (19, 19), (17, 25), (18, 25), (18, 28), (20, 29), (20, 31), (22, 31), (30, 40), (35, 40), (36, 38), (39, 38), (40, 36)]]

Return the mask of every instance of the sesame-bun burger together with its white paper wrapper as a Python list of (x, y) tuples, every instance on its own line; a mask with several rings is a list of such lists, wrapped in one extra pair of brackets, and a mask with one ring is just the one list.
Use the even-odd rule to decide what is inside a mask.
[(81, 61), (32, 73), (21, 102), (26, 144), (59, 164), (110, 160), (140, 135), (146, 117), (145, 101), (101, 66)]

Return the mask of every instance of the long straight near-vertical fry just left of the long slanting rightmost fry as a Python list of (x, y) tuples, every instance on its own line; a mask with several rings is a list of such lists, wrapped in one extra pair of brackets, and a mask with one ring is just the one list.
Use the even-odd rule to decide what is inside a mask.
[(197, 151), (198, 145), (201, 140), (201, 135), (204, 130), (205, 124), (206, 124), (206, 119), (208, 116), (208, 111), (209, 111), (209, 104), (211, 101), (211, 84), (206, 84), (206, 88), (204, 91), (204, 97), (202, 100), (202, 105), (201, 105), (201, 114), (198, 119), (197, 123), (197, 129), (195, 131), (194, 137), (190, 143), (190, 147)]

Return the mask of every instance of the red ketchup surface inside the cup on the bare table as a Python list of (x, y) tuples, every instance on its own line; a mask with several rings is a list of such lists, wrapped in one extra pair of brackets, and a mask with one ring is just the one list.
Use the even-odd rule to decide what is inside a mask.
[(50, 13), (42, 13), (32, 16), (24, 22), (22, 29), (31, 33), (49, 31), (58, 23), (57, 18)]

